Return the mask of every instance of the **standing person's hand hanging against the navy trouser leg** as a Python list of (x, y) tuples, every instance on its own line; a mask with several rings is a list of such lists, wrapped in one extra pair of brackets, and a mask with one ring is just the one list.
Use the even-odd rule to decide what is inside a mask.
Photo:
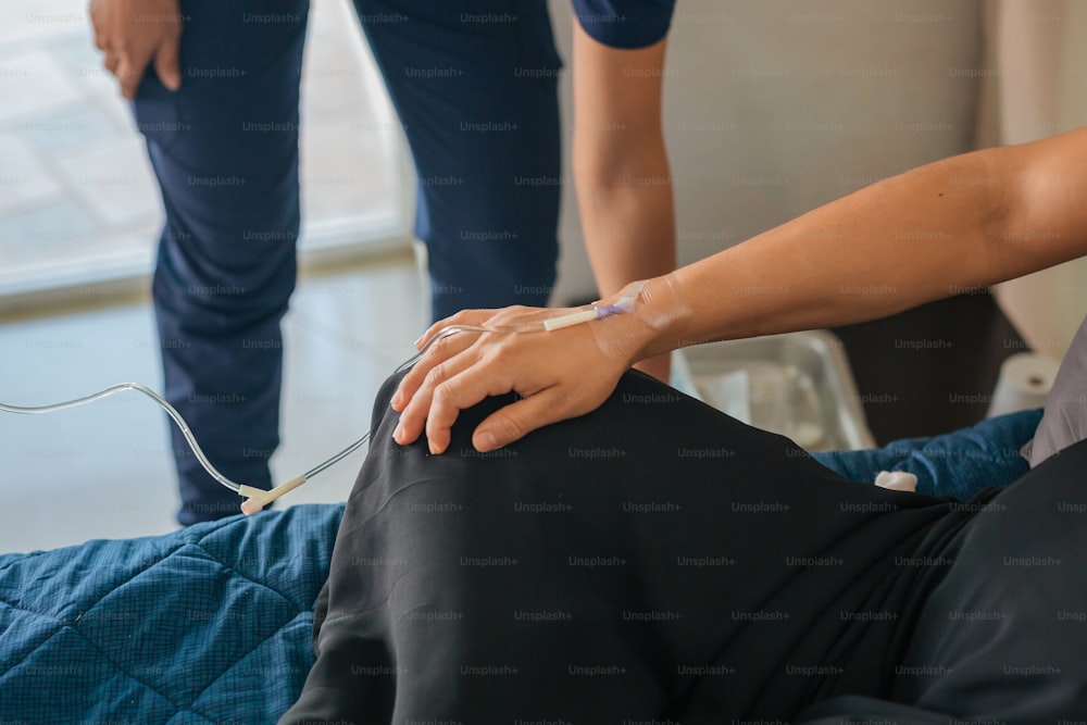
[(116, 76), (122, 96), (136, 97), (152, 62), (162, 85), (180, 88), (178, 0), (91, 0), (90, 23), (95, 45), (105, 53), (105, 67)]

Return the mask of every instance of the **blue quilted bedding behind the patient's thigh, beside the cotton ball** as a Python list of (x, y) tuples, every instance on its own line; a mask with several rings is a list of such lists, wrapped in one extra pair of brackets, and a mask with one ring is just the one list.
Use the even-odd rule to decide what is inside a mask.
[(905, 471), (917, 477), (919, 493), (965, 500), (986, 488), (1008, 486), (1029, 470), (1020, 449), (1034, 437), (1040, 420), (1041, 409), (1020, 411), (941, 436), (812, 458), (860, 484), (875, 483), (880, 471)]

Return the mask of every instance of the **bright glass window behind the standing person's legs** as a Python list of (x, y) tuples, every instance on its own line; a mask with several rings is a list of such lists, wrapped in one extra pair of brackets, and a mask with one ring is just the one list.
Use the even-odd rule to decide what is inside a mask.
[[(0, 5), (0, 297), (148, 274), (158, 185), (86, 0)], [(346, 0), (311, 8), (301, 116), (303, 260), (407, 246), (408, 154)]]

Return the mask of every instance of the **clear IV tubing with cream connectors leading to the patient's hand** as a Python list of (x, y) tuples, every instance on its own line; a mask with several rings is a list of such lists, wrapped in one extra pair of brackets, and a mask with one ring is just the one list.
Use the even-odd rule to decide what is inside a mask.
[[(542, 324), (535, 323), (523, 327), (495, 328), (495, 327), (479, 327), (474, 325), (450, 325), (449, 327), (440, 329), (434, 337), (427, 340), (426, 345), (424, 345), (423, 348), (420, 349), (420, 351), (415, 355), (413, 355), (410, 360), (400, 365), (396, 370), (396, 373), (393, 374), (402, 373), (403, 371), (412, 367), (423, 358), (424, 354), (426, 354), (426, 351), (430, 348), (432, 345), (434, 345), (438, 340), (441, 340), (451, 335), (455, 335), (458, 333), (530, 333), (530, 332), (541, 332), (541, 330), (550, 332), (555, 329), (562, 329), (563, 327), (569, 327), (571, 325), (589, 322), (591, 320), (601, 320), (603, 317), (608, 317), (613, 314), (629, 312), (634, 305), (634, 299), (635, 298), (633, 295), (628, 297), (623, 297), (615, 304), (609, 304), (599, 308), (592, 307), (591, 309), (588, 310), (582, 310), (560, 317), (552, 317), (548, 321), (545, 321)], [(185, 436), (186, 442), (189, 445), (189, 448), (192, 449), (192, 453), (200, 462), (200, 465), (203, 466), (204, 471), (207, 471), (212, 478), (217, 480), (223, 486), (229, 488), (232, 491), (238, 493), (239, 496), (245, 497), (246, 500), (241, 503), (241, 511), (247, 515), (257, 513), (258, 511), (266, 507), (272, 501), (275, 501), (284, 493), (295, 490), (296, 488), (298, 488), (305, 482), (310, 480), (317, 474), (323, 473), (327, 468), (336, 465), (337, 463), (346, 459), (348, 455), (354, 453), (357, 450), (362, 448), (370, 440), (371, 432), (367, 430), (364, 436), (355, 440), (353, 443), (351, 443), (340, 452), (336, 453), (332, 458), (327, 459), (326, 461), (310, 468), (302, 475), (291, 478), (286, 483), (279, 484), (278, 486), (270, 490), (265, 490), (262, 488), (248, 486), (246, 484), (238, 484), (236, 482), (230, 480), (222, 473), (220, 473), (220, 471), (215, 468), (214, 465), (212, 465), (211, 461), (208, 460), (208, 457), (200, 448), (200, 443), (197, 442), (196, 436), (192, 435), (192, 430), (189, 428), (189, 425), (185, 422), (185, 418), (182, 417), (182, 414), (177, 412), (177, 409), (171, 405), (160, 395), (158, 395), (147, 386), (141, 385), (139, 383), (121, 383), (118, 385), (110, 386), (109, 388), (103, 388), (102, 390), (93, 392), (89, 396), (75, 398), (73, 400), (65, 400), (63, 402), (53, 403), (51, 405), (24, 407), (24, 405), (10, 405), (8, 403), (0, 402), (0, 411), (8, 413), (24, 413), (24, 414), (52, 413), (68, 408), (85, 405), (87, 403), (95, 402), (96, 400), (101, 400), (102, 398), (107, 398), (114, 393), (123, 392), (125, 390), (135, 390), (136, 392), (140, 392), (143, 396), (153, 400), (163, 410), (166, 411), (171, 420), (173, 420), (174, 423), (177, 425), (177, 427), (180, 429), (182, 435)]]

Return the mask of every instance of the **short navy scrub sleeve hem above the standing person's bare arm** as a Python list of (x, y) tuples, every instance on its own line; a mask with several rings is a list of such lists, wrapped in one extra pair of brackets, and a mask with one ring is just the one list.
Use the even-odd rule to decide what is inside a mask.
[(675, 4), (675, 0), (574, 0), (574, 13), (594, 40), (634, 49), (667, 35)]

